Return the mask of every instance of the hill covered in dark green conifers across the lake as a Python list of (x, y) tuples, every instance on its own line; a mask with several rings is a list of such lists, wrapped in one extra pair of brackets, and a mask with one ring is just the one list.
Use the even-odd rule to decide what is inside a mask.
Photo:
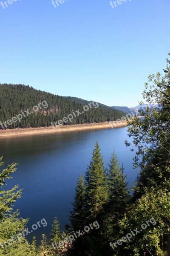
[[(47, 102), (48, 108), (41, 105), (41, 109), (32, 111), (34, 106), (38, 106), (44, 101)], [(82, 113), (83, 107), (88, 103), (90, 102), (46, 93), (22, 84), (0, 84), (0, 122), (7, 122), (19, 114), (26, 114), (26, 117), (23, 116), (20, 122), (17, 120), (11, 124), (9, 121), (10, 125), (6, 123), (10, 129), (51, 126), (51, 122), (58, 122), (69, 114), (73, 114), (73, 111), (79, 110)], [(108, 106), (102, 104), (99, 104), (99, 108), (95, 106), (91, 105), (92, 108), (89, 108), (88, 111), (84, 111), (83, 114), (79, 114), (64, 125), (113, 121), (125, 116), (124, 112)], [(28, 116), (25, 112), (27, 110), (30, 113)], [(0, 126), (1, 128), (2, 126)]]

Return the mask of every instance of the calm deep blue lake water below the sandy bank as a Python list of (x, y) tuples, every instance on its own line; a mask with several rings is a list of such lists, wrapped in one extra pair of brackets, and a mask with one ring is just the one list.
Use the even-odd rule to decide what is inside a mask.
[(28, 235), (29, 241), (33, 236), (40, 241), (43, 233), (49, 238), (55, 215), (64, 229), (76, 181), (80, 172), (85, 175), (96, 140), (105, 167), (114, 149), (119, 163), (124, 164), (129, 186), (133, 186), (137, 171), (132, 166), (133, 153), (124, 143), (127, 139), (127, 127), (0, 138), (0, 156), (4, 156), (6, 164), (19, 163), (13, 179), (4, 186), (10, 189), (19, 184), (23, 189), (22, 198), (17, 200), (14, 209), (20, 209), (20, 215), (30, 219), (28, 230), (42, 218), (48, 223)]

